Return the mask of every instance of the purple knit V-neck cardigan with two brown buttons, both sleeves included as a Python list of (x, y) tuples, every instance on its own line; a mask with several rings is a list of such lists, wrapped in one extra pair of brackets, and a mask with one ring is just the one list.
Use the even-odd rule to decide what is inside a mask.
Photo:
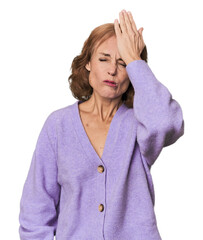
[(150, 168), (184, 134), (183, 114), (144, 60), (126, 71), (133, 108), (117, 110), (101, 158), (81, 122), (81, 101), (47, 117), (20, 201), (21, 240), (161, 240)]

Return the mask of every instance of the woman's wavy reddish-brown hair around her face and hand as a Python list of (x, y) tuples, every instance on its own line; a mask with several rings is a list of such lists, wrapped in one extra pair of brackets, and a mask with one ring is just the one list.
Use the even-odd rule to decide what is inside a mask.
[[(76, 56), (71, 64), (71, 75), (68, 78), (69, 88), (74, 98), (87, 101), (92, 93), (93, 88), (89, 84), (89, 71), (85, 68), (91, 60), (94, 51), (107, 39), (116, 36), (114, 24), (106, 23), (96, 27), (84, 42), (80, 55)], [(140, 54), (142, 60), (147, 62), (147, 47), (145, 45)], [(122, 101), (129, 108), (133, 107), (134, 88), (130, 82), (128, 89), (122, 95)]]

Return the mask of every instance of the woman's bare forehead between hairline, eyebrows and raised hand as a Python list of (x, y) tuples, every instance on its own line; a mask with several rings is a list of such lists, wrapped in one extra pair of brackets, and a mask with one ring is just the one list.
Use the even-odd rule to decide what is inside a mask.
[(110, 54), (111, 57), (118, 57), (120, 58), (119, 52), (118, 52), (118, 47), (117, 47), (117, 40), (116, 37), (110, 37), (107, 40), (105, 40), (102, 44), (99, 45), (99, 47), (96, 49), (95, 54), (100, 54), (100, 53), (107, 53)]

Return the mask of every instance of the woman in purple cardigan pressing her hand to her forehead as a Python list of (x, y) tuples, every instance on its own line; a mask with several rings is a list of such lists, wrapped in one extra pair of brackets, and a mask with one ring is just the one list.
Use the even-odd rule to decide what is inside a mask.
[(78, 99), (52, 112), (21, 198), (21, 240), (160, 240), (150, 168), (184, 134), (131, 13), (94, 29), (72, 63)]

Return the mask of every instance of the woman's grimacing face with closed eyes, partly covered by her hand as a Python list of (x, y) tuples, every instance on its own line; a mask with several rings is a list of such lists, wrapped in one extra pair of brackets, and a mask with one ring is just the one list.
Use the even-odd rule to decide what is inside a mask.
[[(126, 64), (121, 59), (116, 36), (104, 41), (93, 53), (90, 62), (85, 66), (89, 73), (89, 84), (103, 98), (121, 97), (130, 84)], [(109, 86), (105, 80), (115, 81), (116, 86)]]

